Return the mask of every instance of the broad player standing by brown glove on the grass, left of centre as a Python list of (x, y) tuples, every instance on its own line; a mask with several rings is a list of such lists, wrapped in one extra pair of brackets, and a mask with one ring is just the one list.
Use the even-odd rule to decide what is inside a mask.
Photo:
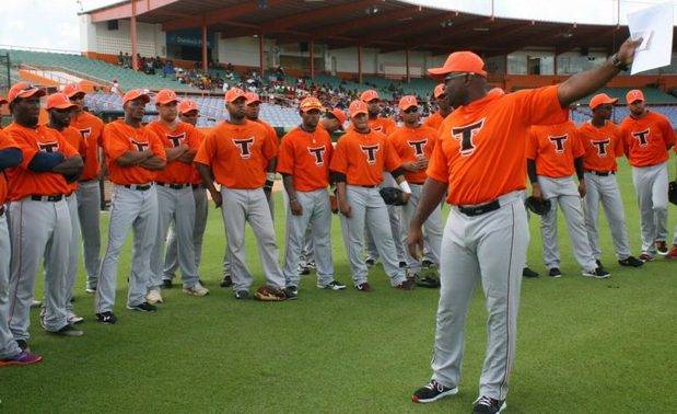
[[(277, 156), (278, 147), (264, 126), (245, 118), (245, 93), (238, 88), (225, 93), (230, 119), (205, 138), (195, 162), (214, 204), (221, 207), (235, 298), (247, 299), (253, 284), (245, 263), (244, 231), (248, 222), (258, 242), (268, 283), (257, 290), (256, 298), (284, 300), (284, 276), (278, 262), (272, 217), (262, 188), (266, 166)], [(221, 185), (221, 192), (214, 187), (214, 180)]]

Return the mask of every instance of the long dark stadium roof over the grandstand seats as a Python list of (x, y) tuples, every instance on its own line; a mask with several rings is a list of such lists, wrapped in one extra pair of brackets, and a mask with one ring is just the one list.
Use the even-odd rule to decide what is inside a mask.
[[(131, 2), (121, 1), (85, 13), (92, 22), (104, 22), (128, 19), (131, 12)], [(138, 0), (136, 14), (137, 21), (162, 24), (164, 31), (206, 24), (223, 38), (262, 34), (279, 43), (315, 41), (383, 51), (472, 49), (491, 56), (525, 47), (612, 50), (628, 36), (627, 27), (618, 25), (506, 19), (396, 0)]]

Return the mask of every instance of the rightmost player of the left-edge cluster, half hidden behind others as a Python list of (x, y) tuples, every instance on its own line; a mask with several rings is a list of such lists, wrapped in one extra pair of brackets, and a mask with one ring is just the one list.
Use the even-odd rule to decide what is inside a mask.
[(96, 290), (96, 278), (101, 267), (101, 157), (104, 122), (84, 111), (84, 91), (79, 83), (63, 88), (63, 93), (75, 104), (71, 112), (70, 126), (78, 129), (86, 141), (87, 153), (75, 195), (78, 196), (78, 218), (82, 233), (84, 268), (86, 271), (85, 291)]

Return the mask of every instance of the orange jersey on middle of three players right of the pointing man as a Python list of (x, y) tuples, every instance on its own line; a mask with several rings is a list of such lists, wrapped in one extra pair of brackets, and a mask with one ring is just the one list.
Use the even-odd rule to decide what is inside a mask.
[(614, 123), (607, 120), (602, 128), (585, 123), (579, 128), (579, 138), (585, 148), (583, 168), (586, 171), (618, 170), (616, 158), (623, 156), (623, 141)]

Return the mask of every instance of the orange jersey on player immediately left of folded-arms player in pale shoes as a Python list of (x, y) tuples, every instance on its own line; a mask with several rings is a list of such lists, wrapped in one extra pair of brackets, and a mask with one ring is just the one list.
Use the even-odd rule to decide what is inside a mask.
[(141, 165), (120, 166), (117, 159), (129, 151), (150, 150), (155, 157), (166, 160), (164, 146), (157, 136), (144, 127), (135, 128), (118, 119), (104, 128), (104, 152), (108, 163), (108, 176), (118, 185), (148, 184), (155, 180), (154, 171)]

